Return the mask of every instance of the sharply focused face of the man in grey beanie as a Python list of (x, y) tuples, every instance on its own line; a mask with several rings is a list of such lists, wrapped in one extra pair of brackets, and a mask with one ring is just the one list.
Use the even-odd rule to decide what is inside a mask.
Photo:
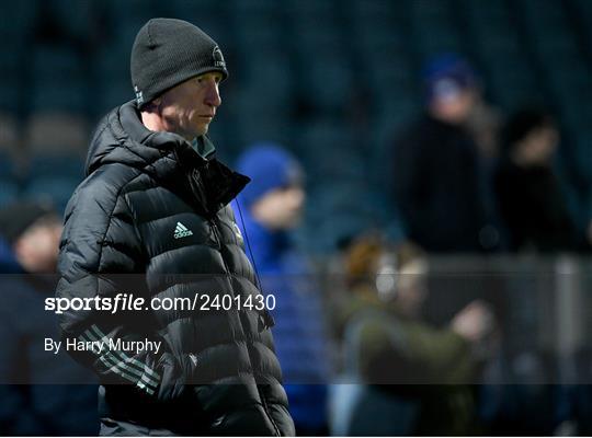
[(210, 72), (191, 78), (155, 100), (164, 128), (192, 140), (203, 136), (221, 104), (219, 83), (223, 74)]

